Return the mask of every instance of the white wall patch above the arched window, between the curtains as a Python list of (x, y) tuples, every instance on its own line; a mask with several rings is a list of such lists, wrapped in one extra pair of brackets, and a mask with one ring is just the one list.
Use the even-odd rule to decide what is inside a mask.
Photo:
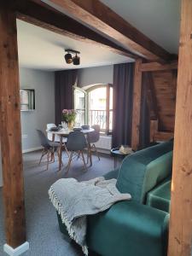
[(90, 84), (113, 84), (113, 65), (79, 69), (78, 86)]

